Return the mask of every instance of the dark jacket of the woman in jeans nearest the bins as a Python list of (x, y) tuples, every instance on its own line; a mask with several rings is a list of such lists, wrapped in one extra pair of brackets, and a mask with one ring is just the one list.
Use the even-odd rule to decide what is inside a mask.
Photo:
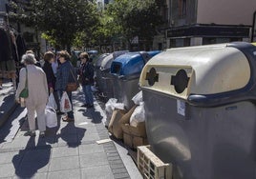
[(81, 85), (94, 85), (94, 66), (90, 62), (81, 64), (79, 68), (80, 83)]

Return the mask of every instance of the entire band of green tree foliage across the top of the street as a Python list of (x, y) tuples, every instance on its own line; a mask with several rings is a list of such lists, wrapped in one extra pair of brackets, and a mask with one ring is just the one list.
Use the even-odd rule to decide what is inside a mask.
[(115, 0), (106, 10), (97, 10), (90, 0), (31, 0), (11, 2), (12, 20), (23, 22), (43, 32), (57, 49), (110, 46), (126, 39), (132, 47), (139, 38), (139, 50), (152, 46), (160, 25), (157, 0)]

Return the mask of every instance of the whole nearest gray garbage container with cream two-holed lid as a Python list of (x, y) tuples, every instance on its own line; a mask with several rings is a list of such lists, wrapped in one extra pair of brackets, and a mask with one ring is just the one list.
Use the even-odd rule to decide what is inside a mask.
[(255, 178), (255, 46), (166, 50), (139, 85), (149, 144), (174, 179)]

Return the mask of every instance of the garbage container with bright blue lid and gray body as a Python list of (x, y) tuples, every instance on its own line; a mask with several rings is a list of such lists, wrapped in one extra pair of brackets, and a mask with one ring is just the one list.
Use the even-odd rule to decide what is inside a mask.
[[(160, 51), (158, 51), (160, 52)], [(139, 76), (151, 55), (145, 51), (128, 52), (115, 59), (111, 66), (114, 84), (114, 98), (123, 103), (126, 109), (134, 106), (132, 98), (139, 92)]]

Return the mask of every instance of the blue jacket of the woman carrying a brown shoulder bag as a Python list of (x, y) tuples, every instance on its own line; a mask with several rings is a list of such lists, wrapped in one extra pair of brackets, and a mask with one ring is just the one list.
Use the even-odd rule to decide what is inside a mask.
[[(75, 75), (73, 77), (72, 72)], [(70, 61), (61, 64), (57, 69), (56, 90), (65, 91), (69, 82), (75, 82), (76, 73)]]

